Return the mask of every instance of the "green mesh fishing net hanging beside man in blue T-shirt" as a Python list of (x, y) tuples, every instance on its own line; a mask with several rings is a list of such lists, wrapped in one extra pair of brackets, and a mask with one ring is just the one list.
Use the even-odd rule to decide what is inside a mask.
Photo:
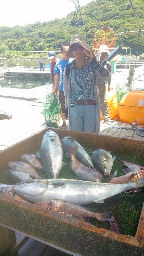
[(47, 126), (58, 128), (61, 117), (61, 105), (55, 93), (49, 93), (42, 111)]

